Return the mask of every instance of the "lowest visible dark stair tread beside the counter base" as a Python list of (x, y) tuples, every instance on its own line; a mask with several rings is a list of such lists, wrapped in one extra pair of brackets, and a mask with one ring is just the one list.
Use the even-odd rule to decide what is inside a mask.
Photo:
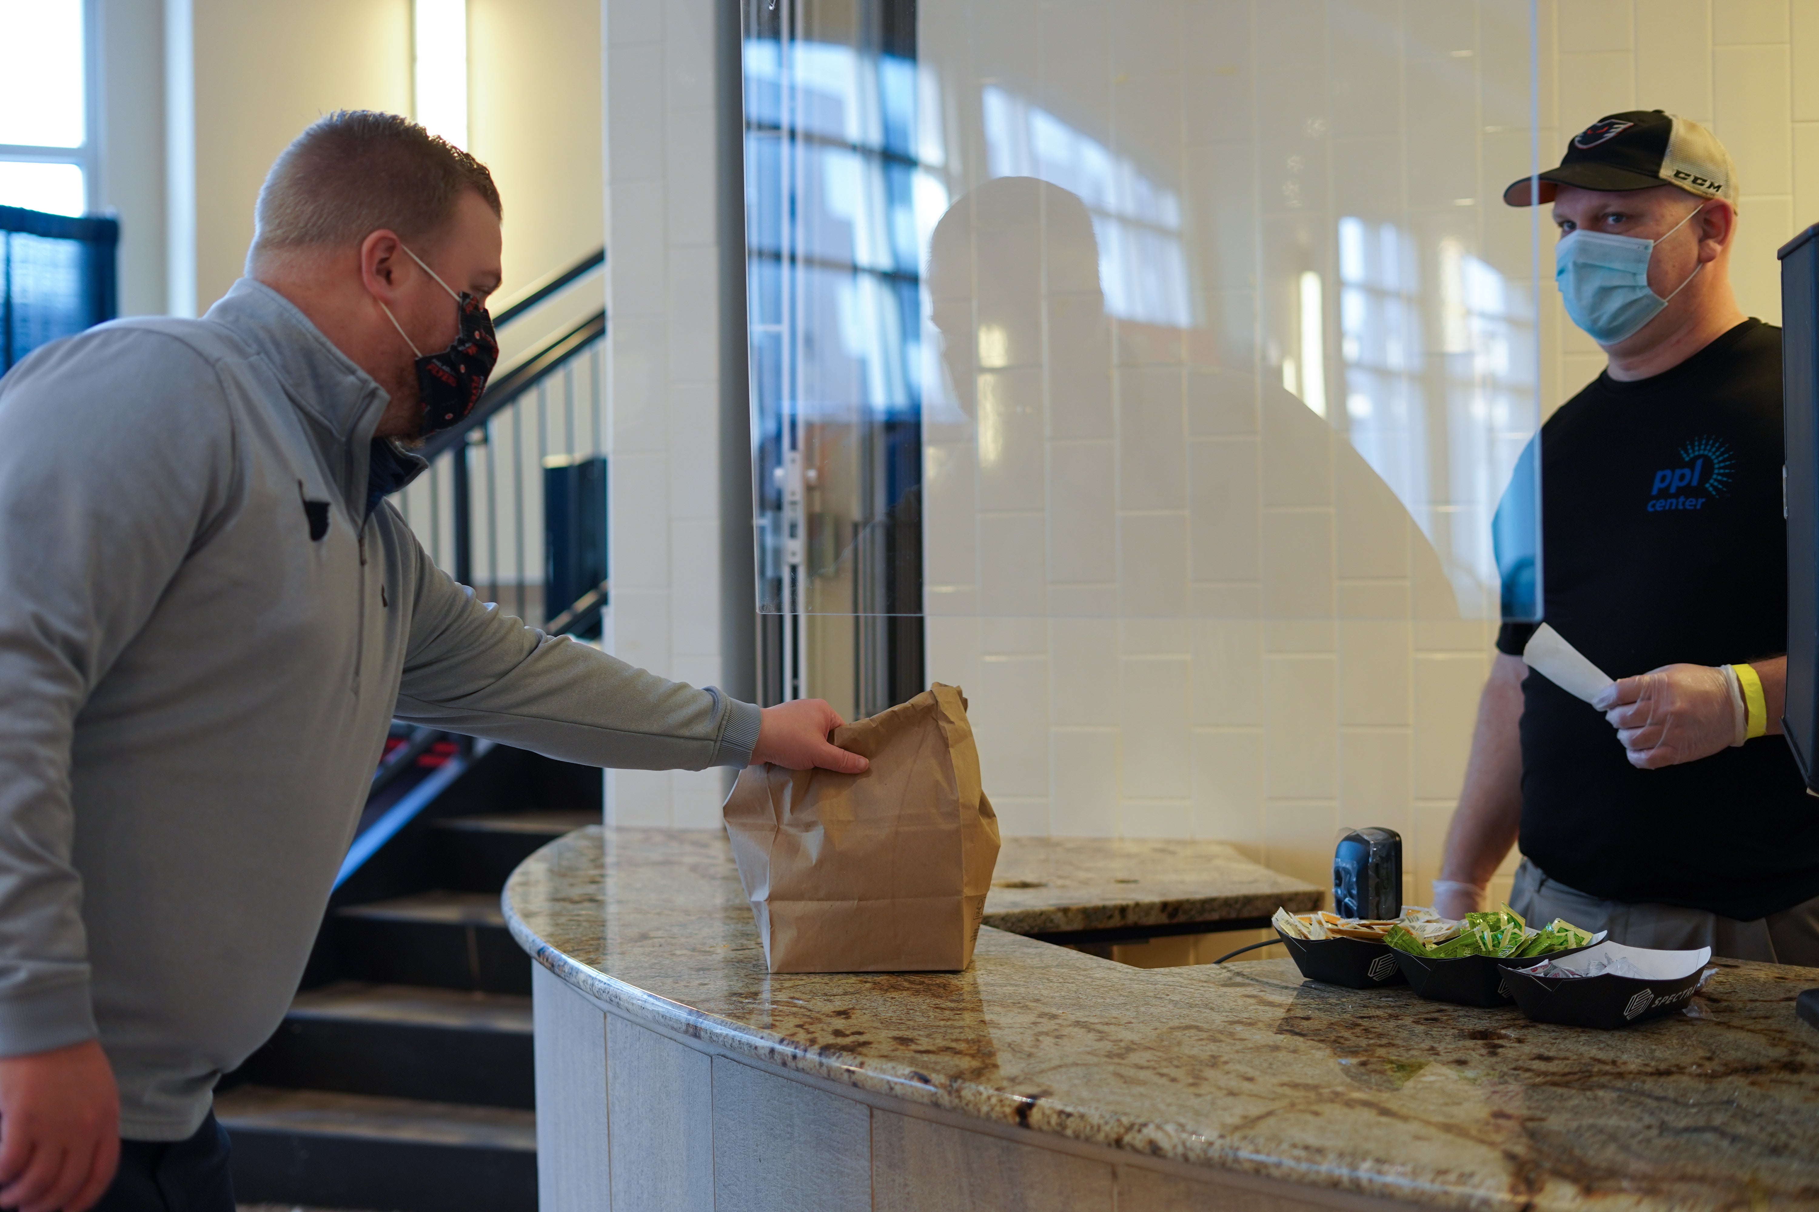
[(233, 1132), (351, 1136), (409, 1145), (537, 1152), (537, 1112), (375, 1094), (236, 1087), (215, 1096)]

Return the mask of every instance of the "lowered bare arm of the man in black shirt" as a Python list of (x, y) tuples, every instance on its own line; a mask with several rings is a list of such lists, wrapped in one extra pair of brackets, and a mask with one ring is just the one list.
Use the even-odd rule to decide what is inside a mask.
[(1484, 907), (1484, 889), (1523, 825), (1523, 678), (1521, 656), (1499, 652), (1479, 696), (1466, 785), (1446, 830), (1433, 910), (1464, 918)]

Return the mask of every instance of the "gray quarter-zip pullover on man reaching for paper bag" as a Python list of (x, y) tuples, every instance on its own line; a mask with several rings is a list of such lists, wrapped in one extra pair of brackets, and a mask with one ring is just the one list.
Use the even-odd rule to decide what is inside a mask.
[(611, 767), (757, 743), (367, 516), (386, 403), (246, 280), (0, 380), (0, 1056), (100, 1036), (127, 1137), (195, 1132), (276, 1028), (393, 716)]

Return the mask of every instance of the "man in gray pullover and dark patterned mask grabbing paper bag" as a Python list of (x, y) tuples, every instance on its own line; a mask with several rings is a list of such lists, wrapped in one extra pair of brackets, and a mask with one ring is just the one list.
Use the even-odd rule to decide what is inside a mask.
[(202, 320), (0, 380), (0, 1207), (233, 1210), (211, 1090), (289, 1005), (391, 718), (866, 765), (819, 700), (760, 712), (482, 605), (384, 503), (491, 367), (478, 162), (331, 114), (256, 218)]

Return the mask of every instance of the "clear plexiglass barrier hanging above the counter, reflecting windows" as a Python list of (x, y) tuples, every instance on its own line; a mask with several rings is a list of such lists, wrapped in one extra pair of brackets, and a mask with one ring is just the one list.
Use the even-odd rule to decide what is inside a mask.
[[(829, 616), (1535, 618), (1539, 225), (1501, 202), (1537, 164), (1532, 22), (748, 0), (782, 643)], [(891, 643), (829, 627), (860, 665)]]

